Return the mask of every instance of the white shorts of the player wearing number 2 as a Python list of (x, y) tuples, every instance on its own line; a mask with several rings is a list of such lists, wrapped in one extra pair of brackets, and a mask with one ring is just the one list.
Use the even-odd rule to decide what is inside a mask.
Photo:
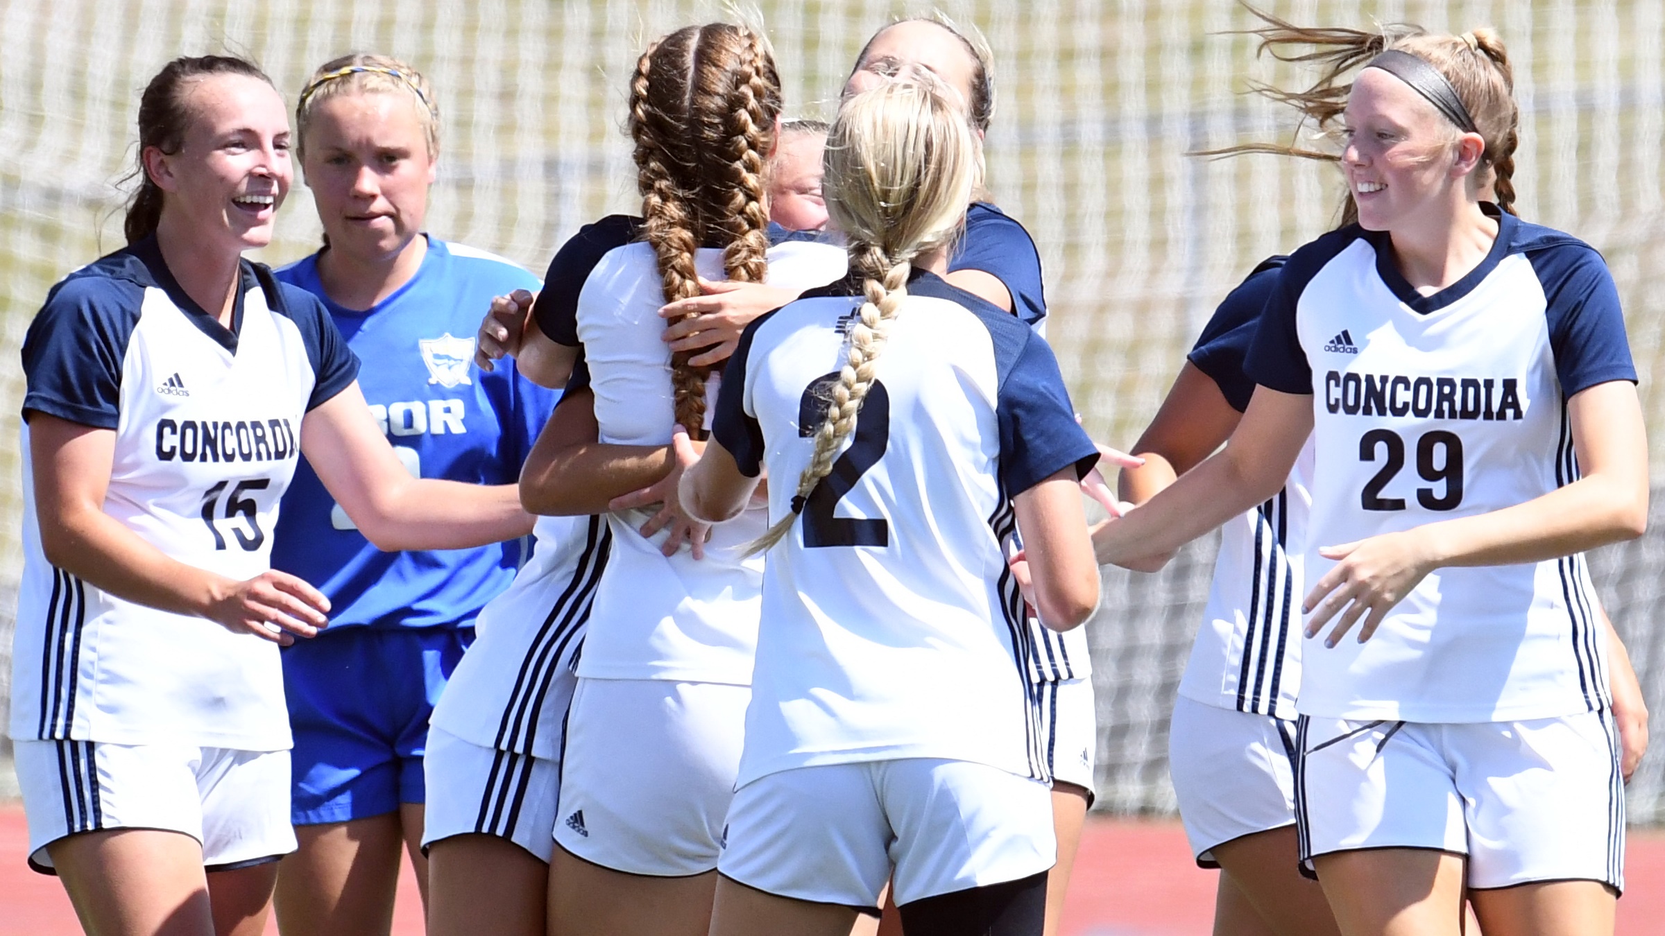
[(1047, 784), (907, 758), (764, 774), (734, 794), (718, 871), (801, 901), (874, 909), (1019, 881), (1057, 859)]

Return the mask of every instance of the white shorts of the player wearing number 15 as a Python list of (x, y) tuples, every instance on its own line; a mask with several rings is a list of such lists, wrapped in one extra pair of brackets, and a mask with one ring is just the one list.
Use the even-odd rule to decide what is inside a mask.
[(13, 754), (35, 871), (55, 873), (47, 846), (60, 838), (123, 828), (191, 836), (206, 871), (295, 851), (288, 751), (13, 741)]

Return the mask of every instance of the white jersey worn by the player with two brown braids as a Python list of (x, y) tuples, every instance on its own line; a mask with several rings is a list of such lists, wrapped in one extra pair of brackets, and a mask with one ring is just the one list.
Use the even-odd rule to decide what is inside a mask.
[[(639, 222), (613, 217), (561, 248), (538, 296), (538, 323), (563, 345), (581, 345), (594, 391), (601, 441), (666, 445), (676, 425), (671, 351), (664, 343), (664, 280)], [(773, 286), (804, 290), (844, 275), (844, 251), (826, 243), (769, 248)], [(723, 251), (701, 248), (699, 275), (721, 280)], [(718, 378), (709, 381), (714, 396)], [(601, 680), (688, 680), (746, 685), (758, 640), (763, 556), (744, 545), (764, 530), (764, 511), (718, 526), (704, 558), (666, 558), (664, 535), (638, 528), (653, 511), (609, 515), (613, 556), (591, 610), (578, 675)]]

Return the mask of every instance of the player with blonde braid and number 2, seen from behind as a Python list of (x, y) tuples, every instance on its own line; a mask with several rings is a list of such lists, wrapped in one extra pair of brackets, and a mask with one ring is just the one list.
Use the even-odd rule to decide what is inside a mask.
[(714, 934), (847, 933), (892, 866), (907, 933), (1042, 931), (1052, 809), (1002, 545), (1024, 530), (1042, 620), (1084, 621), (1097, 450), (1046, 343), (941, 278), (979, 177), (927, 73), (841, 108), (826, 195), (852, 275), (748, 328), (683, 476), (716, 521), (768, 468), (758, 548), (784, 540)]

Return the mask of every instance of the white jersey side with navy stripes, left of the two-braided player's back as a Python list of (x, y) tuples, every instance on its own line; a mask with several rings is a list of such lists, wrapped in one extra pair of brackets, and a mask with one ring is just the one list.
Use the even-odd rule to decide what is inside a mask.
[(481, 748), (554, 761), (568, 696), (551, 685), (573, 678), (613, 533), (601, 516), (539, 516), (533, 536), (531, 560), (475, 618), (475, 643), (430, 721)]

